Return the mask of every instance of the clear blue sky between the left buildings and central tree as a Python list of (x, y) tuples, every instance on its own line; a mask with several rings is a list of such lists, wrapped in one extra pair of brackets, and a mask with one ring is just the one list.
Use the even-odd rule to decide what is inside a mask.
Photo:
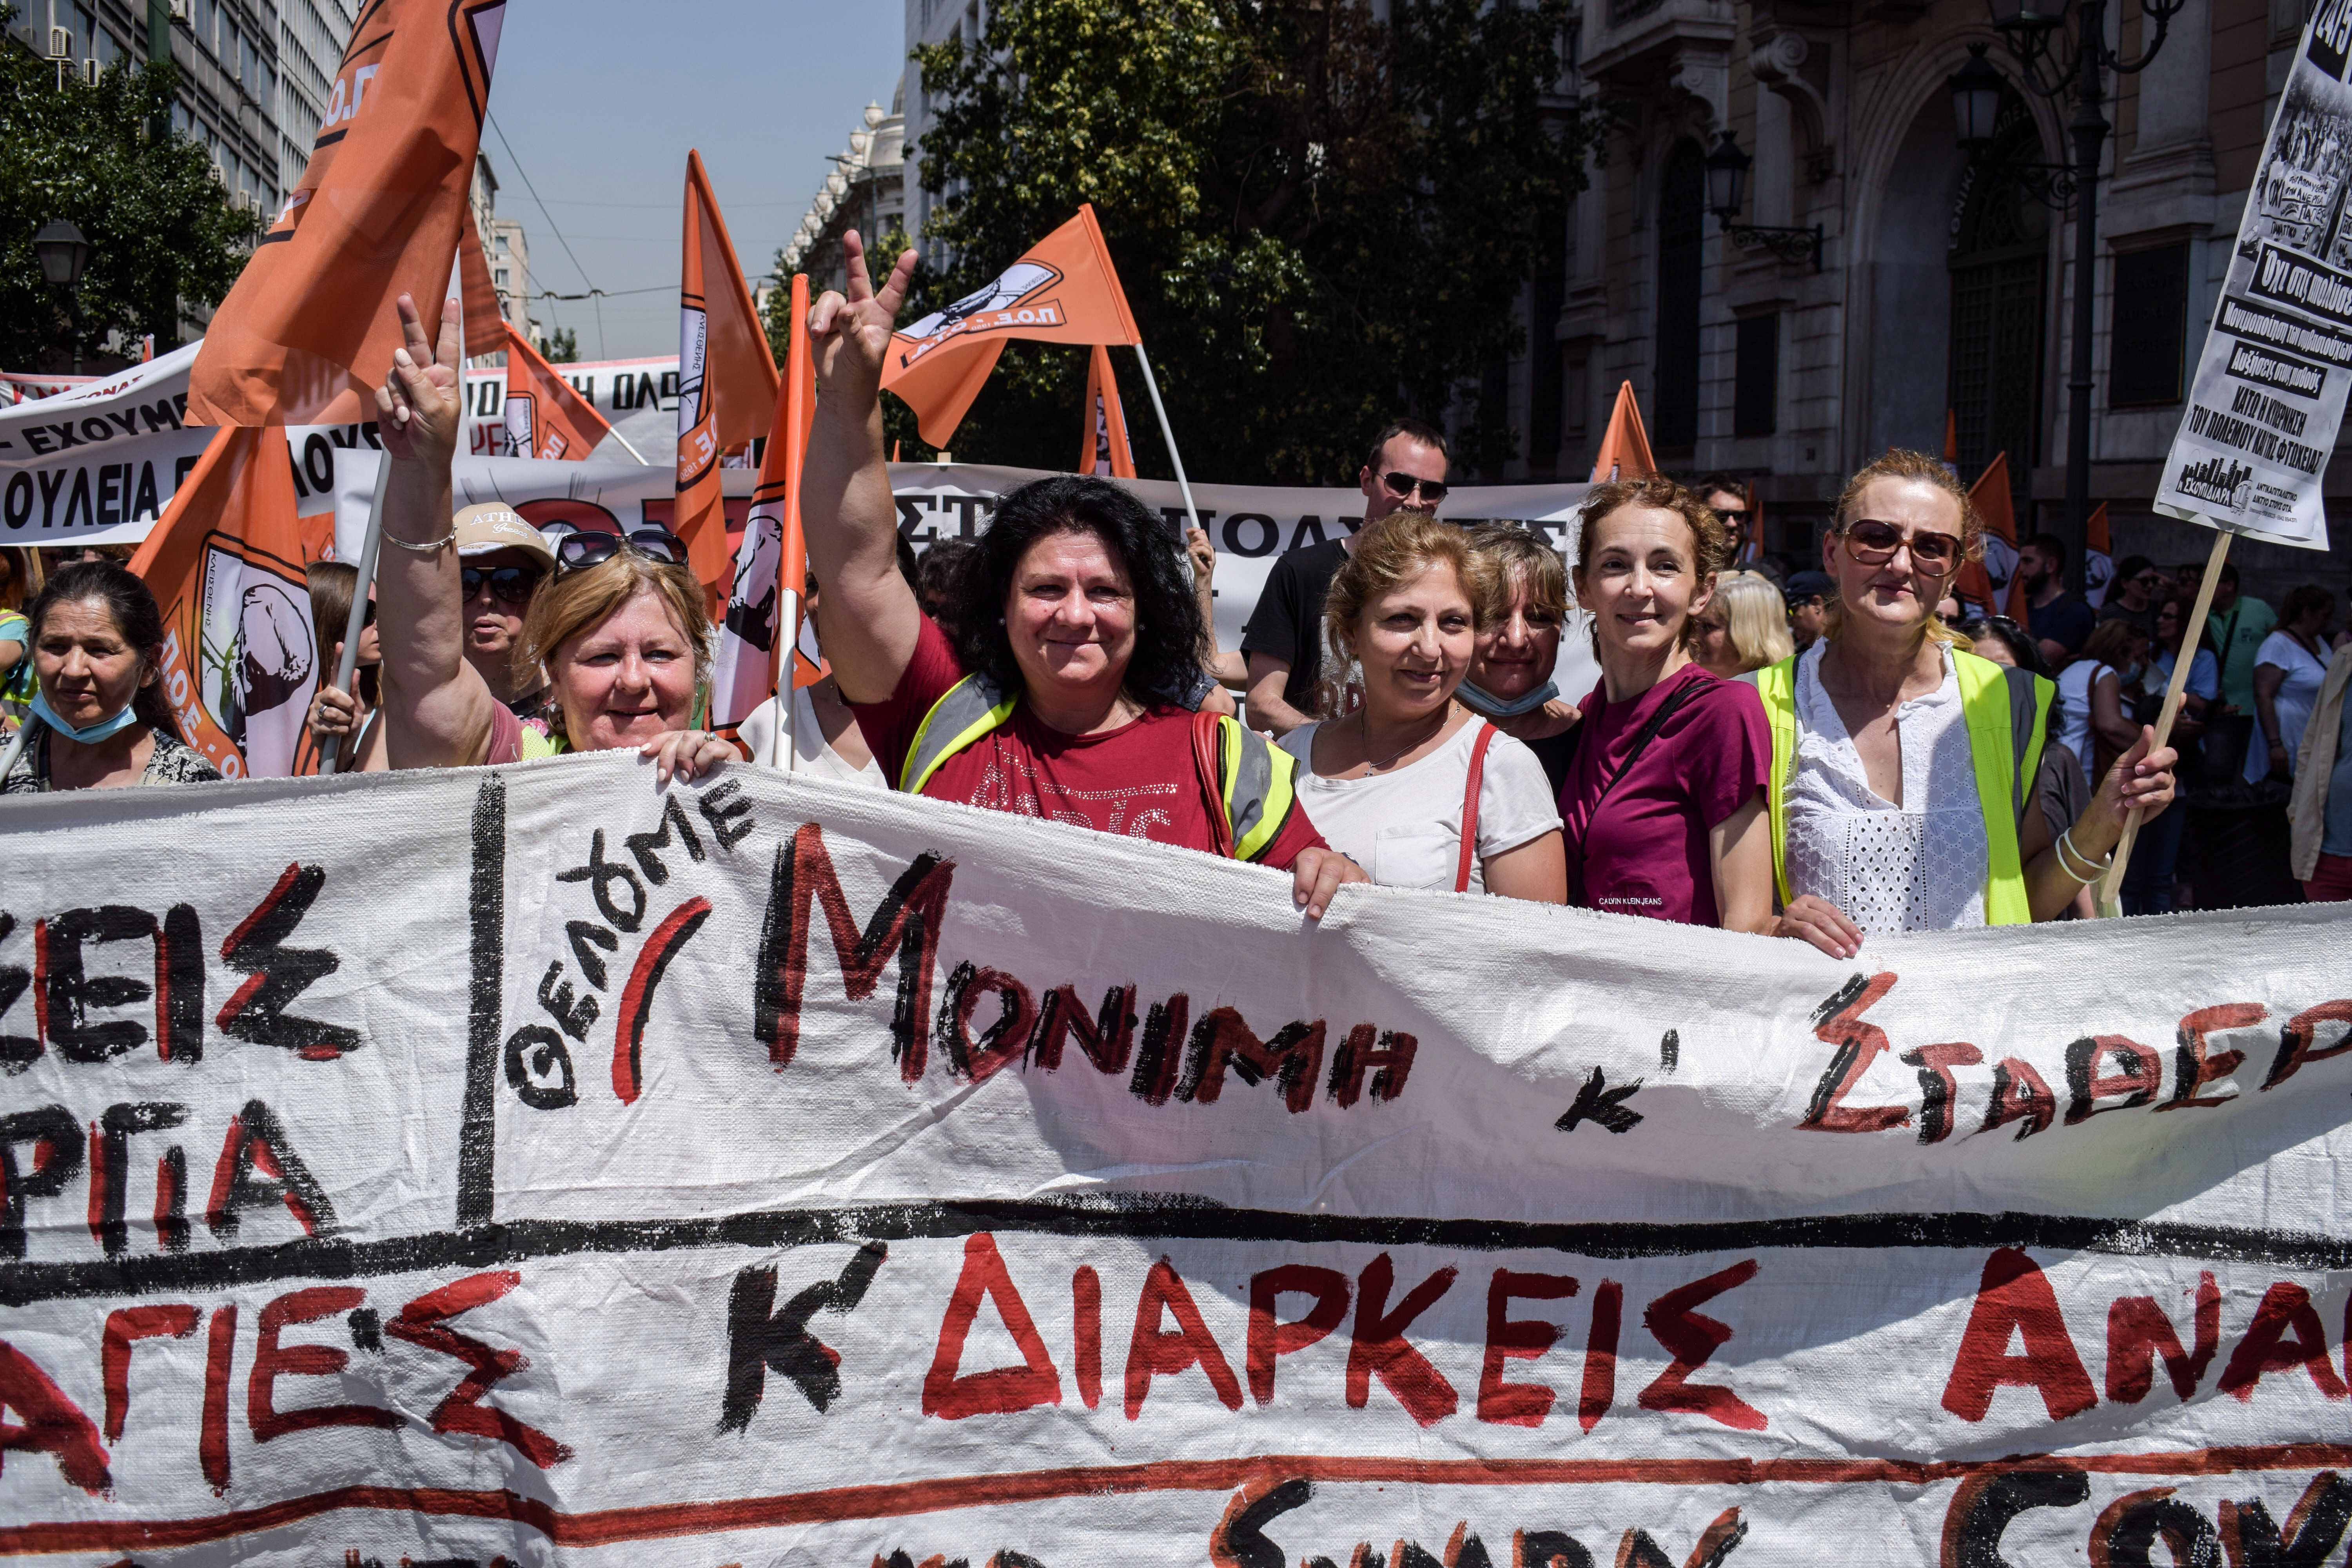
[[(906, 56), (894, 0), (532, 0), (506, 12), (482, 132), (499, 216), (520, 219), (539, 301), (581, 357), (677, 353), (677, 223), (687, 148), (701, 148), (746, 273), (774, 266), (868, 101), (889, 108)], [(517, 172), (520, 162), (520, 172)], [(532, 200), (529, 183), (546, 200)], [(574, 266), (555, 233), (572, 242)]]

